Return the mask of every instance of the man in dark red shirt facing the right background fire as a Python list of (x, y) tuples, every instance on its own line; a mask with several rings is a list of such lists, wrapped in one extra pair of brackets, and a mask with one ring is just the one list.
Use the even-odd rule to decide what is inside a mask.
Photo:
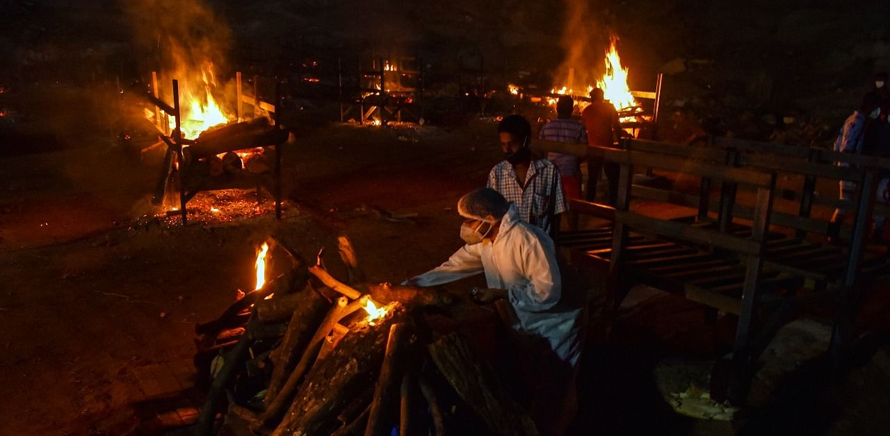
[[(590, 147), (615, 147), (615, 141), (621, 137), (621, 124), (615, 107), (603, 99), (603, 90), (594, 88), (590, 91), (590, 106), (581, 113), (581, 121), (587, 128), (587, 144)], [(618, 198), (619, 166), (616, 163), (605, 163), (602, 158), (587, 159), (587, 201), (596, 198), (596, 183), (600, 179), (600, 170), (609, 178), (609, 203), (614, 204)]]

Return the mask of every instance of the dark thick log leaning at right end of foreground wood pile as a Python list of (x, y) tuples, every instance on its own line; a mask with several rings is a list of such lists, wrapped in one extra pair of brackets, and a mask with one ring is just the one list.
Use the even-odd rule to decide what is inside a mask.
[(492, 432), (538, 434), (530, 416), (498, 382), (494, 370), (473, 349), (469, 339), (460, 333), (451, 333), (427, 345), (427, 350), (451, 387)]

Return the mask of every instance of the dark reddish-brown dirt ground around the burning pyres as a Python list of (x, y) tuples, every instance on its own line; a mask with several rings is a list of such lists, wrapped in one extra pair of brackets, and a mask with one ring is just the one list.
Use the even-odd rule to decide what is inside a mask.
[[(143, 369), (188, 368), (195, 323), (251, 289), (265, 236), (314, 258), (347, 234), (369, 281), (402, 281), (460, 246), (457, 198), (484, 184), (499, 159), (496, 139), (491, 122), (455, 131), (321, 127), (287, 150), (283, 220), (266, 211), (221, 222), (201, 212), (184, 227), (130, 216), (153, 186), (154, 161), (77, 149), (4, 158), (0, 434), (162, 433), (146, 424)], [(401, 215), (408, 220), (387, 219)], [(587, 348), (573, 432), (736, 432), (738, 424), (676, 415), (652, 380), (666, 355), (728, 350), (732, 322), (705, 326), (702, 317), (678, 299), (622, 313), (613, 338)]]

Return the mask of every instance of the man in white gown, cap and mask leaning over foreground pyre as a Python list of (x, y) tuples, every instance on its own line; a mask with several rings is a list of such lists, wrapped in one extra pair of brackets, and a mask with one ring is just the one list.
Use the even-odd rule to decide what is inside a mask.
[(526, 388), (532, 418), (542, 434), (562, 434), (577, 410), (575, 379), (581, 353), (584, 295), (560, 273), (554, 242), (523, 222), (514, 204), (494, 189), (479, 188), (457, 202), (465, 218), (465, 245), (441, 266), (406, 281), (436, 286), (480, 273), (487, 289), (472, 289), (480, 304), (506, 300), (510, 327), (528, 338), (517, 360), (530, 375)]

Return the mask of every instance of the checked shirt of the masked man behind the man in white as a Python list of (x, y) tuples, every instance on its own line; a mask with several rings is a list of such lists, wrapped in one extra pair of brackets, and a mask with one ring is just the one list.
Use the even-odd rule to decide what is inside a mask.
[(548, 234), (554, 217), (567, 209), (559, 171), (546, 159), (531, 161), (524, 187), (516, 181), (513, 165), (501, 161), (489, 172), (488, 186), (516, 204), (519, 218)]

